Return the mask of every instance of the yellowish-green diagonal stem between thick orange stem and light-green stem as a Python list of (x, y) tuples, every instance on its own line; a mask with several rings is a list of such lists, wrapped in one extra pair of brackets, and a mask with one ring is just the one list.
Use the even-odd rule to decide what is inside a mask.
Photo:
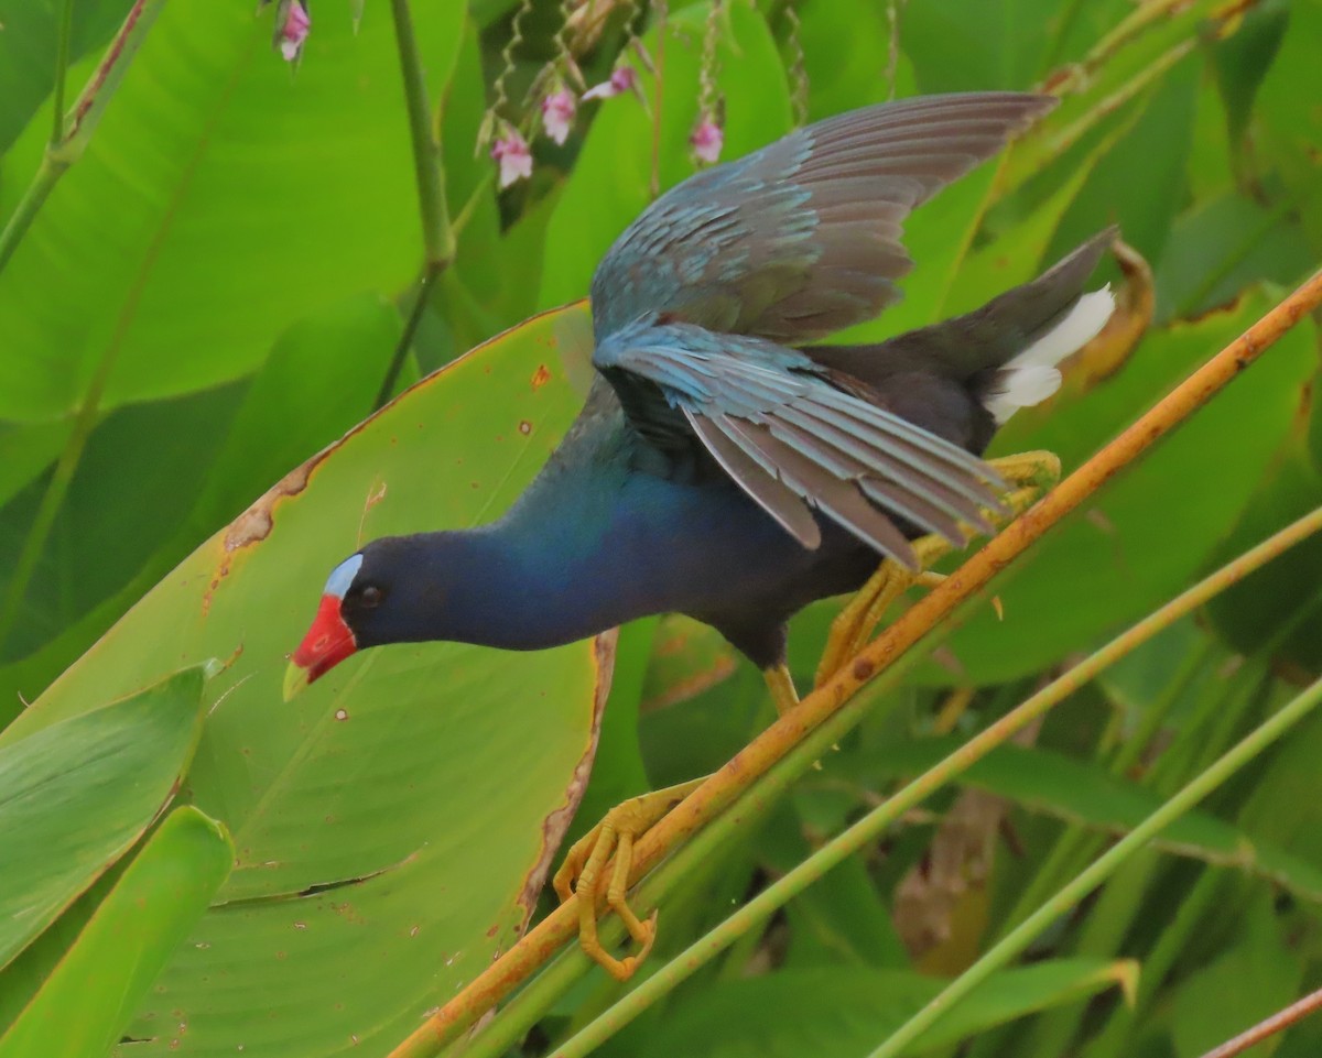
[[(1270, 561), (1282, 551), (1288, 549), (1296, 543), (1300, 543), (1301, 540), (1307, 539), (1319, 530), (1322, 530), (1322, 507), (1306, 515), (1305, 518), (1301, 518), (1300, 520), (1294, 522), (1286, 528), (1281, 530), (1274, 536), (1269, 538), (1257, 547), (1245, 552), (1235, 561), (1229, 563), (1228, 565), (1216, 571), (1211, 576), (1206, 577), (1199, 584), (1194, 585), (1177, 598), (1167, 602), (1155, 613), (1140, 621), (1137, 625), (1125, 631), (1122, 635), (1109, 642), (1101, 650), (1096, 651), (1089, 658), (1080, 662), (1068, 672), (1059, 676), (1056, 680), (1044, 687), (1042, 691), (1032, 695), (1022, 705), (1019, 705), (1018, 708), (1003, 716), (1001, 720), (992, 724), (981, 734), (976, 736), (964, 746), (961, 746), (958, 750), (952, 753), (939, 765), (925, 771), (914, 782), (908, 783), (899, 793), (887, 799), (884, 804), (880, 804), (876, 808), (874, 808), (862, 820), (859, 820), (853, 827), (846, 829), (843, 833), (833, 839), (830, 843), (822, 847), (818, 852), (813, 853), (809, 859), (806, 859), (804, 863), (801, 863), (783, 878), (780, 878), (779, 881), (764, 889), (761, 893), (759, 893), (747, 905), (740, 907), (738, 911), (730, 915), (724, 922), (722, 922), (719, 926), (711, 930), (711, 933), (709, 933), (706, 936), (701, 938), (689, 948), (686, 948), (683, 952), (681, 952), (678, 956), (672, 959), (665, 967), (658, 970), (652, 977), (649, 977), (636, 989), (629, 992), (615, 1006), (612, 1006), (609, 1010), (598, 1017), (592, 1024), (590, 1024), (587, 1028), (584, 1028), (582, 1032), (574, 1036), (563, 1046), (553, 1051), (553, 1058), (582, 1058), (582, 1055), (586, 1055), (594, 1047), (599, 1046), (603, 1041), (605, 1041), (616, 1032), (619, 1032), (621, 1028), (624, 1028), (627, 1024), (629, 1024), (648, 1006), (650, 1006), (657, 999), (669, 993), (678, 984), (690, 977), (701, 966), (706, 964), (709, 960), (711, 960), (722, 951), (728, 948), (740, 935), (743, 935), (748, 930), (754, 929), (755, 926), (771, 918), (771, 915), (773, 915), (789, 899), (798, 896), (798, 893), (801, 893), (814, 881), (821, 878), (828, 870), (830, 870), (837, 864), (842, 863), (845, 859), (854, 855), (859, 849), (875, 841), (904, 812), (916, 807), (937, 789), (940, 789), (957, 775), (966, 771), (976, 761), (985, 757), (994, 748), (1002, 745), (1015, 732), (1022, 730), (1027, 724), (1032, 723), (1039, 716), (1044, 715), (1047, 711), (1058, 705), (1060, 701), (1066, 700), (1069, 695), (1072, 695), (1076, 689), (1084, 686), (1088, 680), (1093, 679), (1093, 676), (1096, 676), (1107, 666), (1113, 664), (1116, 660), (1133, 651), (1137, 646), (1150, 639), (1158, 631), (1169, 627), (1171, 622), (1174, 622), (1179, 617), (1183, 617), (1185, 614), (1192, 612), (1198, 606), (1203, 605), (1203, 602), (1206, 602), (1212, 596), (1224, 590), (1231, 584), (1235, 584), (1252, 571)], [(1315, 689), (1319, 691), (1318, 697), (1322, 699), (1322, 683), (1319, 683)], [(1300, 713), (1300, 716), (1302, 716), (1302, 713)], [(837, 717), (833, 717), (833, 720), (836, 719), (838, 719), (838, 715)], [(773, 769), (773, 771), (769, 774), (775, 774), (781, 769), (793, 771), (795, 757), (808, 756), (812, 752), (818, 752), (820, 748), (816, 746), (814, 742), (824, 740), (825, 734), (824, 728), (818, 728), (816, 732), (813, 732), (813, 736), (810, 738), (805, 740), (796, 749), (793, 754), (781, 761), (780, 765), (777, 765), (776, 769)], [(1211, 771), (1204, 774), (1211, 774)], [(760, 787), (761, 785), (759, 783), (758, 786), (754, 787), (754, 791), (760, 793)], [(1161, 816), (1162, 812), (1167, 811), (1167, 808), (1169, 806), (1163, 807), (1151, 819)], [(1183, 808), (1181, 808), (1179, 811), (1183, 811)], [(1178, 814), (1179, 812), (1177, 811), (1175, 815)], [(1161, 826), (1158, 826), (1155, 831), (1151, 832), (1155, 833), (1157, 831), (1159, 831), (1161, 827), (1169, 823), (1170, 819), (1173, 818), (1174, 815), (1165, 818), (1161, 822)], [(1151, 820), (1140, 824), (1140, 829), (1142, 829), (1142, 827), (1149, 827), (1150, 823)], [(1140, 832), (1138, 829), (1134, 831), (1134, 833), (1138, 832)], [(1145, 836), (1141, 840), (1145, 840), (1146, 836), (1149, 835), (1145, 832)], [(1129, 843), (1130, 849), (1137, 848), (1140, 841), (1134, 841), (1132, 839), (1133, 835), (1124, 839), (1120, 844), (1116, 845), (1116, 848), (1120, 848), (1120, 845), (1124, 845), (1126, 841)], [(685, 849), (685, 852), (689, 851), (691, 851), (691, 847), (690, 849)], [(1108, 856), (1110, 855), (1112, 853), (1108, 853)], [(1124, 857), (1114, 860), (1113, 865), (1118, 865), (1120, 863), (1122, 863), (1122, 859)], [(1100, 878), (1097, 880), (1100, 881)], [(1077, 880), (1075, 884), (1077, 884)], [(640, 906), (652, 906), (650, 899), (646, 901), (642, 899), (645, 889), (646, 889), (645, 885), (641, 886), (640, 889), (639, 903)], [(1047, 906), (1052, 909), (1056, 907), (1059, 899), (1060, 896), (1058, 894), (1055, 902), (1051, 902)], [(1050, 922), (1050, 918), (1047, 921)], [(1010, 936), (1007, 936), (1005, 942), (993, 948), (993, 951), (1003, 950), (1003, 946), (1011, 939), (1015, 940), (1017, 943), (1019, 940), (1023, 940), (1026, 943), (1027, 939), (1031, 939), (1036, 934), (1035, 933), (1025, 934), (1023, 931), (1025, 927), (1027, 927), (1030, 923), (1040, 925), (1042, 922), (1043, 921), (1040, 911), (1035, 915), (1031, 915), (1025, 922), (1023, 927), (1011, 933)], [(980, 960), (980, 963), (981, 962), (982, 960)], [(995, 966), (989, 966), (984, 972), (982, 977), (985, 977), (986, 973), (990, 973), (992, 970), (997, 968), (999, 964), (1001, 963), (997, 963)], [(981, 981), (982, 977), (974, 980), (973, 984)], [(951, 988), (954, 988), (962, 980), (964, 977), (960, 977), (958, 980), (952, 983)], [(965, 987), (964, 991), (966, 992), (968, 988), (972, 988), (972, 985)], [(949, 992), (949, 989), (947, 989), (947, 992)], [(960, 992), (960, 996), (962, 995), (964, 992)], [(937, 1004), (940, 1000), (941, 997), (939, 996), (937, 1000), (933, 1000), (933, 1005)], [(953, 1000), (951, 1000), (949, 1003), (953, 1003)], [(939, 1016), (941, 1012), (944, 1012), (949, 1006), (949, 1003), (941, 1003), (940, 1006), (937, 1008), (936, 1014)], [(498, 1020), (500, 1018), (497, 1018), (497, 1022)], [(908, 1043), (911, 1040), (914, 1040), (915, 1036), (923, 1029), (928, 1028), (928, 1025), (931, 1025), (933, 1020), (935, 1016), (928, 1017), (919, 1025), (916, 1030), (910, 1029), (910, 1025), (915, 1024), (910, 1022), (910, 1025), (906, 1025), (903, 1029), (900, 1029), (900, 1033), (908, 1033), (907, 1036), (904, 1036), (900, 1045), (895, 1045), (894, 1047), (891, 1047), (891, 1042), (887, 1041), (883, 1050), (878, 1051), (875, 1055), (873, 1055), (873, 1058), (888, 1058), (888, 1055), (896, 1054), (899, 1051), (899, 1046), (902, 1046), (903, 1043)], [(479, 1037), (479, 1041), (481, 1041), (481, 1038), (483, 1037)], [(886, 1047), (891, 1049), (887, 1050)], [(486, 1058), (486, 1055), (494, 1055), (500, 1053), (504, 1051), (473, 1047), (473, 1050), (469, 1053), (469, 1058), (479, 1058), (479, 1055)]]

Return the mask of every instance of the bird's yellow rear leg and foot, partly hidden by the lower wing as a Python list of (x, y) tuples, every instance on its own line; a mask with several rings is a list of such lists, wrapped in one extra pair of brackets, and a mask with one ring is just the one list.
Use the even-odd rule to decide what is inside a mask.
[[(1006, 482), (1018, 486), (1007, 493), (1005, 511), (985, 511), (988, 520), (1002, 526), (1032, 506), (1038, 497), (1060, 479), (1060, 460), (1051, 452), (1022, 452), (988, 461)], [(919, 569), (911, 573), (904, 567), (886, 560), (832, 622), (826, 649), (817, 666), (816, 686), (821, 687), (839, 671), (850, 658), (871, 639), (873, 631), (886, 610), (914, 585), (935, 588), (945, 577), (928, 572), (928, 567), (952, 552), (954, 547), (940, 536), (921, 536), (914, 540), (914, 555)], [(768, 678), (769, 682), (769, 678)]]

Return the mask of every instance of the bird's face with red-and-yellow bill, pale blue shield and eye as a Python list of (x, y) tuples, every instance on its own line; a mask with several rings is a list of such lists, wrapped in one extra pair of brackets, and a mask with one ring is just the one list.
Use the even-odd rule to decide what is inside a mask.
[(361, 647), (382, 642), (373, 633), (393, 585), (374, 551), (369, 544), (330, 571), (312, 627), (290, 658), (286, 701)]

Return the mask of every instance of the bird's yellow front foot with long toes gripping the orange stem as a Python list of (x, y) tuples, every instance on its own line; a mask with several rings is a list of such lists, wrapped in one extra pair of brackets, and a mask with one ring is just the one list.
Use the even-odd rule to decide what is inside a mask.
[[(568, 899), (571, 892), (579, 894), (579, 947), (591, 959), (605, 967), (607, 972), (620, 981), (633, 976), (656, 939), (657, 913), (646, 921), (640, 919), (629, 907), (627, 890), (629, 872), (633, 868), (633, 840), (652, 827), (661, 816), (683, 800), (705, 779), (694, 779), (678, 786), (668, 786), (650, 794), (631, 798), (605, 814), (588, 833), (574, 843), (566, 853), (564, 863), (555, 872), (554, 885), (561, 899)], [(612, 860), (613, 853), (613, 860)], [(605, 893), (602, 893), (602, 880), (607, 877), (607, 864), (611, 865)], [(598, 935), (598, 905), (602, 898), (613, 910), (639, 950), (624, 959), (616, 959), (602, 947)]]

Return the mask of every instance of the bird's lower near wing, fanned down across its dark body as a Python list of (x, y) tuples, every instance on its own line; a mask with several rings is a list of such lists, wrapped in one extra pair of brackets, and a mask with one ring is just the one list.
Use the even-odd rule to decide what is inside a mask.
[[(694, 437), (804, 547), (816, 507), (883, 555), (916, 568), (886, 511), (962, 547), (960, 522), (990, 531), (1002, 483), (981, 460), (837, 386), (795, 349), (682, 322), (636, 321), (594, 363), (653, 444)], [(1003, 486), (1002, 486), (1003, 487)]]

